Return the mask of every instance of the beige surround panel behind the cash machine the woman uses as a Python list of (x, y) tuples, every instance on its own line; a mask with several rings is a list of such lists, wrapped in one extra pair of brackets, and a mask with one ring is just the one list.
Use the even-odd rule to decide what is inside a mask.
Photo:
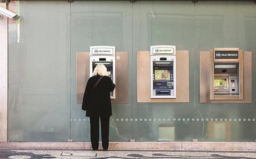
[[(113, 104), (128, 103), (128, 53), (116, 52), (116, 99), (111, 99)], [(76, 53), (76, 93), (77, 104), (83, 102), (86, 82), (90, 78), (89, 73), (90, 52)]]

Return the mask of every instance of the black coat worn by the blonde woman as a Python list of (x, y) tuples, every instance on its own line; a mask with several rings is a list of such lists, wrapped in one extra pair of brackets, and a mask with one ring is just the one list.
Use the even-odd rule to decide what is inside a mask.
[(110, 92), (115, 89), (115, 84), (110, 77), (104, 76), (93, 89), (99, 77), (95, 75), (87, 81), (82, 104), (87, 117), (110, 117), (112, 115)]

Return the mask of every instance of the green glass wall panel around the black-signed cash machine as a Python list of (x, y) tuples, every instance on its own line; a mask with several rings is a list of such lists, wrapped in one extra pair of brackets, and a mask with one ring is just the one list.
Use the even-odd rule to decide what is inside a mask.
[[(254, 66), (255, 15), (255, 5), (252, 5), (252, 2), (197, 3), (195, 5), (195, 67), (200, 67), (200, 51), (209, 51), (214, 48), (240, 48), (253, 51)], [(195, 74), (197, 74), (195, 75), (195, 139), (254, 141), (256, 138), (255, 99), (250, 104), (200, 103), (199, 69), (195, 69)], [(253, 67), (255, 88), (254, 79), (255, 67)]]

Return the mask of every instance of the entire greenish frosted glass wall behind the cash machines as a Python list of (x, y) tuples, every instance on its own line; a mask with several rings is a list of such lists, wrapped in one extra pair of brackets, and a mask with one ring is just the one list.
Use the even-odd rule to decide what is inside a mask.
[[(200, 103), (200, 51), (214, 48), (252, 51), (256, 94), (255, 3), (11, 1), (9, 8), (21, 16), (9, 20), (11, 142), (90, 141), (90, 121), (76, 101), (76, 53), (95, 45), (128, 52), (128, 103), (112, 104), (111, 141), (162, 141), (163, 132), (173, 134), (170, 141), (255, 140), (255, 99)], [(137, 102), (137, 52), (151, 45), (189, 51), (189, 102)]]

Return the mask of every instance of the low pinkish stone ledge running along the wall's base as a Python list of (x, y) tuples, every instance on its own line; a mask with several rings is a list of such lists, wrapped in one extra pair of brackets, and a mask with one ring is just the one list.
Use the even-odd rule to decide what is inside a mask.
[[(100, 146), (101, 147), (101, 143)], [(91, 142), (0, 142), (0, 148), (90, 149)], [(109, 149), (256, 150), (256, 142), (109, 142)]]

